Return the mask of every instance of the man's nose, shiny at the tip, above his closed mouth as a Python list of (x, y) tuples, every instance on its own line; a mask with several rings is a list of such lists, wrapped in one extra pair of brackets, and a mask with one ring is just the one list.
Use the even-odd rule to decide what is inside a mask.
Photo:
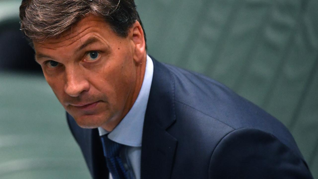
[(89, 82), (86, 80), (85, 75), (75, 68), (66, 70), (66, 83), (64, 91), (72, 97), (78, 97), (83, 91), (88, 91)]

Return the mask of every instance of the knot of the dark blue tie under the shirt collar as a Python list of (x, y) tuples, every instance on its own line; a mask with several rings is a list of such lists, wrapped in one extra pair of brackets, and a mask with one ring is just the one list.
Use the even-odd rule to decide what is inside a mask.
[(104, 149), (104, 156), (106, 158), (112, 158), (114, 156), (119, 156), (121, 144), (114, 142), (113, 140), (108, 139), (107, 134), (100, 136), (101, 142)]

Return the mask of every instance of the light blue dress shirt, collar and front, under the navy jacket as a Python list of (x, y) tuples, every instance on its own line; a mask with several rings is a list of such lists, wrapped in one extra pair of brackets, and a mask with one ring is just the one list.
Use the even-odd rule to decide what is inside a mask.
[[(135, 179), (140, 179), (142, 129), (153, 73), (154, 64), (147, 55), (145, 76), (133, 107), (112, 132), (101, 127), (98, 128), (100, 136), (109, 133), (110, 140), (125, 145), (121, 151), (121, 158), (125, 168), (128, 168), (129, 173)], [(110, 174), (109, 178), (113, 179)]]

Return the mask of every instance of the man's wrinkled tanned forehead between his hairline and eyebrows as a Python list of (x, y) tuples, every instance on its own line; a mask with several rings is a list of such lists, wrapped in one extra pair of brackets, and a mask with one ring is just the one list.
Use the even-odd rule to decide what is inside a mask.
[(82, 39), (87, 34), (100, 36), (112, 31), (103, 18), (95, 15), (87, 15), (68, 30), (62, 32), (58, 37), (45, 39), (44, 41), (33, 41), (34, 47), (44, 47), (49, 45), (52, 48), (65, 47), (72, 45), (74, 42)]

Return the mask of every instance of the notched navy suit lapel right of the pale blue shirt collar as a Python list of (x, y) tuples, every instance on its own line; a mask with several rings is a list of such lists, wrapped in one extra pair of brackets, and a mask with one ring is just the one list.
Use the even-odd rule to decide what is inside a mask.
[(176, 120), (174, 82), (170, 71), (154, 58), (142, 134), (141, 178), (170, 178), (177, 140), (166, 129)]

